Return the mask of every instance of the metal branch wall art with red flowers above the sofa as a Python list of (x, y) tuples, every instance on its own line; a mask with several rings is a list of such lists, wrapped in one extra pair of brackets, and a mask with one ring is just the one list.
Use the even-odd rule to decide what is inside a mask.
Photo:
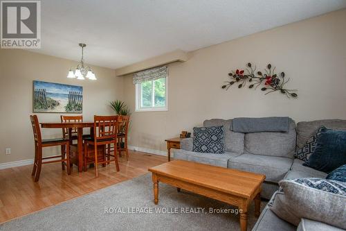
[(289, 82), (289, 78), (285, 77), (284, 72), (281, 72), (280, 75), (276, 74), (275, 67), (271, 67), (271, 64), (266, 65), (266, 69), (262, 73), (261, 71), (256, 72), (256, 67), (248, 62), (246, 69), (231, 71), (228, 76), (231, 80), (226, 81), (226, 84), (222, 85), (222, 89), (228, 90), (234, 84), (237, 84), (238, 88), (242, 88), (246, 86), (246, 83), (249, 83), (248, 88), (257, 89), (257, 87), (263, 85), (261, 90), (266, 91), (266, 94), (279, 91), (288, 98), (297, 98), (298, 96), (297, 89), (287, 89), (285, 87), (286, 83)]

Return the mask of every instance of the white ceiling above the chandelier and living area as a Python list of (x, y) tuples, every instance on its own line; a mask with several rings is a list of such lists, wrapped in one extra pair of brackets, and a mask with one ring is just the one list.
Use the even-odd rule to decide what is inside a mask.
[[(346, 8), (346, 0), (43, 0), (39, 53), (116, 69)], [(33, 51), (33, 50), (32, 50)]]

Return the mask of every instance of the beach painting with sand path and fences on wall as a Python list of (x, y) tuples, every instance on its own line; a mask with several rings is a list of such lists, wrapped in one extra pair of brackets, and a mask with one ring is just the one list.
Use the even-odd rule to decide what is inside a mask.
[(82, 109), (83, 87), (34, 80), (34, 113), (82, 113)]

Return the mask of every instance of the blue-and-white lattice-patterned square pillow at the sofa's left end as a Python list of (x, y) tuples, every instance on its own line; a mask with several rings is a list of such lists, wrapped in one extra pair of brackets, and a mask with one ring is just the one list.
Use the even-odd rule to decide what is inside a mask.
[(194, 128), (193, 151), (224, 153), (224, 126)]

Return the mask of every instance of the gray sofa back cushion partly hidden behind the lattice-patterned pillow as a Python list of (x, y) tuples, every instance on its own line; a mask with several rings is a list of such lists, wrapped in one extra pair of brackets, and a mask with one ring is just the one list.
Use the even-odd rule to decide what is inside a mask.
[(244, 152), (244, 133), (230, 130), (232, 119), (209, 119), (203, 122), (203, 126), (224, 126), (224, 149), (233, 153)]

